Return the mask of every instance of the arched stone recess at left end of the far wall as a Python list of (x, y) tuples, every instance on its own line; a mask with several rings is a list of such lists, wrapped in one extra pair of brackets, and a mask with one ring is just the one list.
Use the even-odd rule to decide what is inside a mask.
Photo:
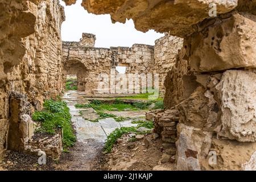
[(81, 63), (80, 60), (72, 59), (68, 60), (64, 64), (64, 81), (67, 79), (67, 75), (76, 75), (77, 77), (77, 90), (85, 91), (86, 75), (88, 69)]

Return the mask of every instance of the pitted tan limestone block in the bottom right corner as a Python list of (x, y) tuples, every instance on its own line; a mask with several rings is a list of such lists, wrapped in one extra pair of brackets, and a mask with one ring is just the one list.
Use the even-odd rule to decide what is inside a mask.
[(238, 142), (212, 138), (207, 158), (201, 160), (203, 170), (255, 170), (255, 142)]

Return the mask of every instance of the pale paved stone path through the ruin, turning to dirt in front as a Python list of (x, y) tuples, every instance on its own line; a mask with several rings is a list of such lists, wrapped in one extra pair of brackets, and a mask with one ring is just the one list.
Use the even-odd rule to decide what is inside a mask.
[[(98, 170), (104, 165), (103, 148), (105, 139), (115, 129), (120, 127), (137, 126), (131, 123), (132, 120), (116, 122), (114, 118), (99, 119), (98, 122), (91, 122), (81, 115), (94, 118), (96, 111), (92, 108), (75, 107), (76, 104), (85, 104), (83, 92), (70, 90), (64, 94), (63, 101), (67, 102), (72, 115), (73, 126), (76, 130), (77, 142), (69, 154), (63, 155), (61, 169), (66, 170)], [(141, 113), (138, 113), (141, 114)], [(139, 117), (140, 115), (138, 115)]]

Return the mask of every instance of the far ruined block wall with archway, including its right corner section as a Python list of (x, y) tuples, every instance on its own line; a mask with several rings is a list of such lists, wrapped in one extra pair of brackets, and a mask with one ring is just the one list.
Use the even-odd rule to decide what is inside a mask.
[[(63, 63), (65, 81), (67, 75), (77, 76), (77, 89), (86, 94), (134, 94), (135, 80), (138, 82), (142, 93), (143, 88), (159, 87), (160, 95), (164, 95), (164, 78), (167, 72), (174, 67), (177, 50), (182, 47), (183, 40), (174, 36), (166, 35), (155, 41), (155, 46), (134, 44), (129, 47), (94, 47), (96, 36), (93, 34), (82, 34), (80, 42), (63, 42)], [(115, 85), (118, 80), (116, 67), (126, 67), (125, 82), (120, 81), (127, 89), (117, 90)], [(102, 91), (98, 86), (104, 80), (101, 76), (108, 76), (106, 81), (108, 87)], [(154, 78), (157, 75), (157, 79)], [(145, 82), (143, 82), (143, 78)], [(110, 78), (116, 78), (110, 80)], [(149, 80), (147, 80), (149, 78)], [(150, 78), (152, 82), (150, 81)], [(157, 82), (156, 82), (157, 81)], [(129, 85), (133, 85), (131, 89)], [(144, 85), (144, 86), (141, 86)]]

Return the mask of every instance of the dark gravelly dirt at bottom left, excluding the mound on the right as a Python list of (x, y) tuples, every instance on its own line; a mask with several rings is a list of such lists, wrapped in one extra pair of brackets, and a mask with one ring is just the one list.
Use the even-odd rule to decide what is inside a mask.
[(104, 164), (103, 143), (93, 140), (76, 142), (68, 153), (59, 160), (46, 159), (46, 165), (39, 165), (39, 156), (7, 151), (0, 164), (0, 170), (8, 171), (98, 171)]

